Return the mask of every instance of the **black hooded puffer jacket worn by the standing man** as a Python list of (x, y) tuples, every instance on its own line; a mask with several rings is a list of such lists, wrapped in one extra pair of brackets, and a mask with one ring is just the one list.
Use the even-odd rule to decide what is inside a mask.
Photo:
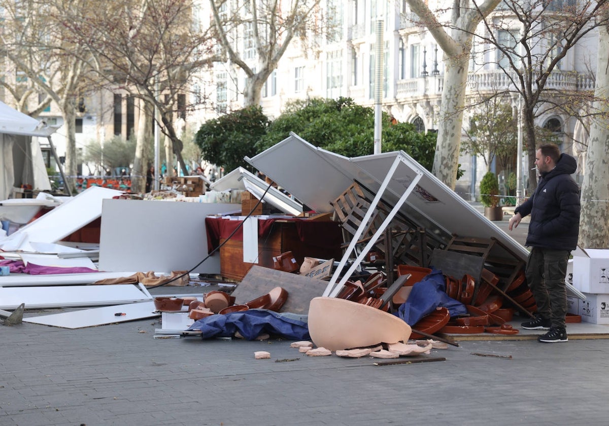
[(571, 178), (577, 161), (561, 154), (556, 167), (541, 174), (535, 194), (515, 209), (530, 214), (527, 246), (575, 250), (579, 235), (579, 189)]

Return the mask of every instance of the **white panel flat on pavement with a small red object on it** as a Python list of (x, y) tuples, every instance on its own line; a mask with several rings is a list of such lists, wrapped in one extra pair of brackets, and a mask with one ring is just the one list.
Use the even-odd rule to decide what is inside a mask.
[[(125, 315), (115, 315), (116, 313), (124, 313)], [(54, 313), (53, 315), (33, 316), (32, 318), (23, 318), (23, 322), (63, 327), (65, 329), (82, 329), (83, 327), (124, 323), (125, 321), (153, 318), (155, 316), (159, 316), (159, 313), (154, 312), (154, 302), (138, 302)]]

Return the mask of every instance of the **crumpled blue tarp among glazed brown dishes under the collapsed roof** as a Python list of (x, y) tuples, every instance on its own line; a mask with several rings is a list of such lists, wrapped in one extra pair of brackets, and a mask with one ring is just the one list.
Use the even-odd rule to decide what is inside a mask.
[(412, 326), (424, 316), (434, 312), (437, 307), (448, 309), (451, 317), (467, 313), (464, 304), (448, 297), (446, 279), (442, 271), (434, 268), (425, 278), (412, 286), (407, 301), (401, 304), (394, 315)]

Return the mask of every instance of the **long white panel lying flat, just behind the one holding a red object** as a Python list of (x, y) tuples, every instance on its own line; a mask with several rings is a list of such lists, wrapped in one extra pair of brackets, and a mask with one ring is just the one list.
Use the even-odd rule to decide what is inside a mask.
[[(139, 284), (141, 285), (141, 284)], [(0, 287), (0, 309), (104, 306), (150, 300), (139, 285), (69, 285), (60, 287)], [(143, 286), (142, 286), (143, 287)]]

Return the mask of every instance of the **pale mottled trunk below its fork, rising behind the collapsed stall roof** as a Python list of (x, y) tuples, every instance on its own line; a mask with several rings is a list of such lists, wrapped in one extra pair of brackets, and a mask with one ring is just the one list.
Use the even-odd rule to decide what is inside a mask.
[(457, 165), (461, 145), (465, 83), (470, 55), (446, 58), (444, 90), (438, 123), (438, 139), (435, 147), (432, 173), (446, 186), (454, 189), (457, 182)]

